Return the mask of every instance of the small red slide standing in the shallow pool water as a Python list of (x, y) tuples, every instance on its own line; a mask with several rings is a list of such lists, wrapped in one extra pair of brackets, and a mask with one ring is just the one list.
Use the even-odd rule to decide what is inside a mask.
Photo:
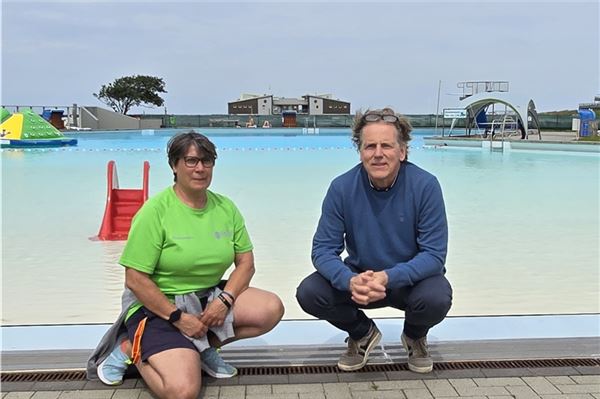
[(98, 232), (98, 239), (105, 241), (126, 240), (131, 228), (131, 220), (148, 200), (148, 177), (150, 163), (144, 161), (141, 189), (119, 188), (117, 165), (109, 161), (107, 165), (107, 192), (104, 218)]

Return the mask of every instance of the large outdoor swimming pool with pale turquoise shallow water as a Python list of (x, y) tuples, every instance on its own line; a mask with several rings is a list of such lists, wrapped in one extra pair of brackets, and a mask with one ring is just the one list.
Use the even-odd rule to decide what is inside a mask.
[[(283, 298), (286, 319), (306, 318), (295, 287), (313, 270), (310, 245), (329, 182), (358, 162), (349, 131), (201, 130), (219, 148), (211, 188), (246, 218), (253, 283)], [(145, 133), (77, 134), (76, 148), (1, 152), (3, 324), (107, 323), (117, 315), (124, 242), (89, 237), (102, 220), (109, 160), (122, 187), (141, 187), (144, 160), (151, 195), (171, 184), (165, 145), (173, 131)], [(451, 314), (600, 312), (600, 157), (424, 148), (432, 133), (415, 132), (409, 159), (444, 190)]]

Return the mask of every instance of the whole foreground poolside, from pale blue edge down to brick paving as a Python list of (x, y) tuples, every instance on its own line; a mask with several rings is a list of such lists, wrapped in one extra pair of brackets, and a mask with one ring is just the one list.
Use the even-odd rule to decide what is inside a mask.
[[(430, 332), (430, 349), (434, 361), (450, 366), (427, 375), (392, 367), (406, 363), (398, 342), (402, 320), (375, 321), (384, 337), (370, 356), (373, 369), (338, 372), (335, 364), (344, 350), (343, 334), (316, 320), (286, 320), (266, 336), (224, 348), (223, 357), (242, 373), (231, 379), (204, 378), (200, 397), (600, 399), (598, 314), (448, 318)], [(2, 327), (2, 372), (82, 370), (90, 348), (106, 328)], [(547, 367), (516, 362), (527, 359), (590, 359), (592, 364)], [(515, 362), (497, 368), (452, 366), (490, 360)], [(288, 367), (288, 371), (273, 372), (277, 367)], [(271, 372), (260, 372), (263, 369)], [(153, 397), (137, 378), (128, 378), (118, 387), (81, 378), (4, 381), (1, 391), (7, 399)]]

